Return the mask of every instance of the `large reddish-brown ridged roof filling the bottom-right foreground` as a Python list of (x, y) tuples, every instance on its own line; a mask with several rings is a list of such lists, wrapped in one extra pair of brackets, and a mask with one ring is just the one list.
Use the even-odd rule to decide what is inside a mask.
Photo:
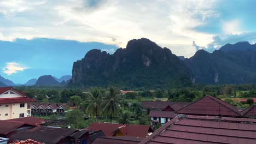
[(179, 115), (140, 144), (256, 143), (256, 119)]

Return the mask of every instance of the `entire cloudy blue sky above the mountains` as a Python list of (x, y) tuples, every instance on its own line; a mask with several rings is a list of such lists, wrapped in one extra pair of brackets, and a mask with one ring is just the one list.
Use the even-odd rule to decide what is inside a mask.
[(113, 53), (148, 38), (191, 57), (256, 43), (254, 0), (0, 0), (0, 75), (15, 83), (71, 75), (91, 49)]

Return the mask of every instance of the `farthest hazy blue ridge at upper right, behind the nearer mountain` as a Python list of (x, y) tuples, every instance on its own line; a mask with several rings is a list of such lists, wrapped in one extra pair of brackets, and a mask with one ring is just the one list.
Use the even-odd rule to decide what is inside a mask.
[(247, 51), (253, 50), (256, 51), (256, 44), (251, 45), (248, 41), (241, 41), (236, 44), (226, 44), (220, 47), (221, 51), (228, 52), (228, 51)]

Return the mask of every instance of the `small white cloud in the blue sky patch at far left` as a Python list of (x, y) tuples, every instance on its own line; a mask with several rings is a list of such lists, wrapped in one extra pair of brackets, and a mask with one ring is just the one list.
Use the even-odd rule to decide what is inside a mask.
[(25, 69), (28, 69), (28, 67), (20, 65), (19, 63), (9, 62), (7, 63), (7, 66), (3, 69), (3, 73), (11, 75)]

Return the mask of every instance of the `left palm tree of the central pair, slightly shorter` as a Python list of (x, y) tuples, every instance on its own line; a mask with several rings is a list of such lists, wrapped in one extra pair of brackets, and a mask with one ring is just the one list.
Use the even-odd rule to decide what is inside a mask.
[(95, 116), (97, 119), (98, 115), (101, 115), (101, 103), (102, 103), (102, 95), (100, 88), (92, 88), (89, 92), (89, 105), (86, 108), (86, 113), (91, 116)]

